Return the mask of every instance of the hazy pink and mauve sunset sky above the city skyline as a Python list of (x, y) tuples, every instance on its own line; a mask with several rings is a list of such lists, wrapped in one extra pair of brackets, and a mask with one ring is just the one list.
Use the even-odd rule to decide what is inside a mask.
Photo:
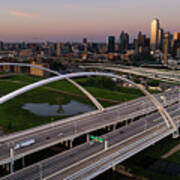
[(105, 41), (121, 31), (149, 35), (150, 23), (180, 31), (180, 0), (1, 0), (0, 40)]

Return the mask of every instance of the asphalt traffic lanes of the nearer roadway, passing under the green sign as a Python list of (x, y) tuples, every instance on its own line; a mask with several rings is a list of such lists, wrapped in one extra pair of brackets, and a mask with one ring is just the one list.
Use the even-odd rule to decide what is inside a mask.
[[(171, 114), (172, 117), (180, 116), (179, 105), (175, 104), (170, 106), (168, 108), (168, 112)], [(158, 124), (159, 126), (155, 130), (162, 130), (160, 126), (162, 122), (163, 121), (159, 113), (154, 112), (153, 114), (150, 114), (147, 117), (143, 117), (138, 121), (132, 122), (129, 126), (122, 127), (120, 129), (117, 129), (113, 132), (104, 135), (102, 136), (102, 138), (108, 140), (109, 147), (112, 147), (117, 143), (121, 142), (122, 144), (120, 146), (121, 148), (124, 148), (126, 146), (123, 143), (127, 143), (126, 145), (131, 145), (131, 143), (136, 142), (137, 139), (132, 138), (134, 137), (134, 135), (145, 132), (145, 130), (150, 129), (152, 127), (156, 127)], [(163, 127), (165, 128), (165, 130), (167, 130), (164, 123)], [(36, 180), (40, 179), (40, 176), (47, 177), (57, 172), (59, 172), (59, 174), (53, 176), (50, 179), (63, 179), (79, 171), (80, 169), (83, 169), (86, 166), (89, 167), (89, 165), (93, 162), (96, 162), (100, 158), (100, 154), (97, 155), (97, 153), (103, 152), (103, 150), (104, 144), (100, 144), (94, 141), (92, 141), (91, 143), (85, 143), (76, 148), (65, 151), (64, 153), (41, 161), (38, 164), (34, 164), (10, 176), (4, 177), (2, 178), (2, 180)], [(92, 157), (93, 155), (95, 156)], [(106, 157), (106, 155), (107, 154), (103, 156)], [(87, 159), (87, 157), (91, 158)], [(82, 161), (85, 159), (86, 161), (82, 163)]]

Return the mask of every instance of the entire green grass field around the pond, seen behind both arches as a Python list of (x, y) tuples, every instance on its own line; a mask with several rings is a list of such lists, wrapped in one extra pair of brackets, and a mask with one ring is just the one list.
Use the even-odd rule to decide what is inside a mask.
[[(0, 96), (41, 79), (42, 78), (40, 77), (28, 75), (14, 75), (6, 79), (1, 79)], [(85, 81), (86, 79), (81, 80)], [(48, 88), (53, 89), (49, 90)], [(105, 107), (115, 105), (120, 102), (129, 101), (142, 95), (140, 92), (138, 92), (138, 90), (128, 88), (120, 88), (119, 91), (89, 86), (85, 88), (95, 97), (101, 98), (99, 101)], [(60, 92), (58, 92), (59, 90)], [(25, 103), (49, 103), (52, 105), (61, 105), (70, 102), (72, 99), (92, 105), (90, 100), (88, 100), (88, 98), (79, 89), (74, 87), (66, 80), (54, 82), (34, 89), (0, 105), (0, 126), (3, 127), (6, 132), (14, 132), (41, 124), (46, 124), (52, 121), (52, 117), (36, 116), (29, 111), (23, 110), (22, 106)], [(108, 99), (110, 99), (110, 101), (107, 101)], [(68, 116), (54, 117), (53, 120), (58, 120), (65, 117)]]

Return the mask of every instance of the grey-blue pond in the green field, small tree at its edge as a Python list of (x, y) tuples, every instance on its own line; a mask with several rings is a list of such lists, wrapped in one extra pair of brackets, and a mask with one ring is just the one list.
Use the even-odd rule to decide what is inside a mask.
[(93, 110), (91, 105), (71, 100), (67, 104), (51, 105), (48, 103), (26, 103), (22, 109), (28, 110), (37, 116), (61, 116), (61, 115), (75, 115), (85, 113)]

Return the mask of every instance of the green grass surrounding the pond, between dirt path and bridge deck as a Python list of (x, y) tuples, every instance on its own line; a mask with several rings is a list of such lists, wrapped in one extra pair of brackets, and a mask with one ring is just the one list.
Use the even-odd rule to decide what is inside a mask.
[[(61, 105), (70, 102), (72, 99), (87, 104), (91, 103), (85, 98), (62, 95), (56, 92), (52, 93), (44, 88), (38, 88), (1, 105), (0, 126), (2, 126), (6, 132), (13, 132), (46, 124), (51, 122), (52, 117), (36, 116), (27, 110), (23, 110), (22, 106), (24, 103), (49, 103), (52, 105)], [(54, 117), (54, 120), (65, 117), (68, 116)]]

